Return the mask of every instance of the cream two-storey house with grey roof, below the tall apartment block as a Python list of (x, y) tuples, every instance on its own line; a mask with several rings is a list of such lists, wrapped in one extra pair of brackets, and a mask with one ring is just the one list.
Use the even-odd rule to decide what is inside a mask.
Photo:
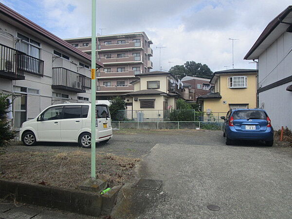
[(153, 71), (136, 77), (131, 82), (134, 91), (125, 94), (127, 117), (139, 121), (163, 120), (167, 110), (176, 108), (182, 84), (168, 72)]

